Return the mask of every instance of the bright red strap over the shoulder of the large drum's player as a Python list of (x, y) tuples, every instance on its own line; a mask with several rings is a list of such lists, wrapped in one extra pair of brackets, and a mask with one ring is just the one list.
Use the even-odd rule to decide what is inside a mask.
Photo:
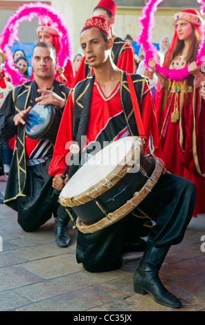
[(131, 77), (130, 73), (127, 73), (127, 82), (128, 82), (128, 86), (129, 86), (129, 89), (130, 89), (130, 97), (131, 97), (131, 100), (132, 100), (132, 106), (133, 106), (133, 109), (134, 109), (134, 116), (135, 116), (135, 119), (136, 119), (136, 124), (137, 124), (137, 128), (138, 128), (138, 131), (139, 131), (139, 136), (142, 138), (142, 140), (144, 142), (144, 139), (146, 138), (146, 136), (145, 136), (145, 131), (144, 131), (144, 127), (143, 127), (143, 121), (142, 121), (142, 118), (141, 118), (141, 113), (140, 113), (140, 110), (139, 110), (139, 104), (138, 104), (138, 100), (136, 98), (136, 92), (135, 92), (135, 89), (134, 89), (134, 84), (133, 84), (132, 77)]

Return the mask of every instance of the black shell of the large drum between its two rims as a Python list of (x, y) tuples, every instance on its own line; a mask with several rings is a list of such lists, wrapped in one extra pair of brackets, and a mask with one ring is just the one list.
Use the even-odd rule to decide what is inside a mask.
[[(84, 225), (91, 225), (103, 219), (106, 214), (112, 213), (138, 192), (152, 175), (155, 168), (155, 160), (141, 152), (141, 167), (147, 173), (148, 177), (141, 171), (127, 173), (121, 180), (111, 187), (107, 192), (98, 196), (95, 200), (89, 201), (82, 205), (72, 207), (73, 211), (79, 217)], [(106, 212), (103, 212), (100, 207)]]

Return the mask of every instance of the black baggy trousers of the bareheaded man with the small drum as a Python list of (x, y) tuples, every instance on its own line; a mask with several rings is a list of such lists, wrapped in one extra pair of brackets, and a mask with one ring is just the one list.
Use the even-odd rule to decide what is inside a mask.
[(66, 214), (52, 187), (53, 177), (48, 175), (49, 164), (50, 160), (47, 160), (26, 169), (26, 196), (17, 198), (17, 221), (26, 232), (37, 230), (52, 215)]

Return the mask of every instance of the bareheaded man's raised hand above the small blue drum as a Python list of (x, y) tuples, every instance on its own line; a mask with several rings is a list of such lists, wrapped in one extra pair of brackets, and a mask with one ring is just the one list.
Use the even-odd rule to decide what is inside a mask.
[(46, 89), (38, 89), (37, 92), (42, 94), (42, 96), (37, 97), (35, 99), (35, 101), (39, 105), (52, 104), (62, 109), (66, 104), (66, 101), (56, 93), (53, 93), (53, 91), (48, 91)]

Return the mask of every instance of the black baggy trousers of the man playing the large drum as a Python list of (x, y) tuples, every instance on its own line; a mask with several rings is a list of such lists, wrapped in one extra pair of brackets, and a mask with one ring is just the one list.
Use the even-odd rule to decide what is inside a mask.
[[(148, 234), (155, 247), (175, 245), (182, 241), (195, 208), (195, 185), (174, 174), (159, 178), (152, 192), (139, 205), (156, 222)], [(137, 222), (127, 215), (117, 223), (93, 234), (78, 231), (76, 258), (89, 272), (105, 272), (121, 267), (123, 242), (137, 232)]]

